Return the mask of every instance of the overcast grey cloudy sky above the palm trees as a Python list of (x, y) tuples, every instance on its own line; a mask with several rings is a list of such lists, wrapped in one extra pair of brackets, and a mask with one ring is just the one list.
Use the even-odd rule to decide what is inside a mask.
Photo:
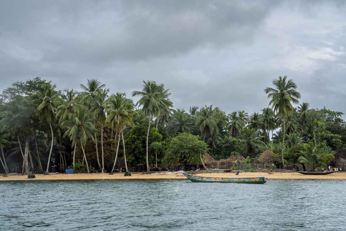
[(174, 108), (251, 114), (288, 75), (301, 103), (346, 112), (345, 12), (346, 1), (1, 0), (0, 90), (96, 78), (130, 96), (156, 80)]

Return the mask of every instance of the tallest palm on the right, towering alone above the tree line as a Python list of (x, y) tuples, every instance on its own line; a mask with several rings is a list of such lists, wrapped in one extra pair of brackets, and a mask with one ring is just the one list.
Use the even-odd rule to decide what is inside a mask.
[(292, 79), (287, 81), (287, 76), (283, 78), (279, 76), (279, 79), (273, 80), (273, 85), (275, 88), (267, 87), (264, 92), (268, 94), (268, 98), (271, 98), (269, 105), (272, 105), (273, 111), (279, 114), (283, 120), (283, 137), (282, 137), (282, 146), (281, 146), (281, 160), (282, 165), (285, 167), (285, 162), (283, 159), (283, 146), (285, 143), (285, 118), (293, 113), (293, 106), (291, 104), (299, 103), (298, 99), (300, 98), (300, 93), (296, 90), (297, 84), (293, 82)]

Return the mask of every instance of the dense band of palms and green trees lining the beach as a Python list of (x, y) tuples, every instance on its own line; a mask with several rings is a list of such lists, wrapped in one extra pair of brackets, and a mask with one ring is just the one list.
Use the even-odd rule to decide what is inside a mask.
[(287, 77), (273, 85), (265, 89), (270, 107), (226, 114), (213, 105), (174, 110), (169, 89), (155, 81), (133, 92), (137, 103), (96, 79), (80, 92), (58, 90), (40, 77), (17, 81), (0, 95), (0, 172), (51, 171), (53, 165), (57, 171), (70, 165), (89, 172), (148, 170), (201, 163), (206, 152), (217, 160), (241, 154), (263, 162), (257, 157), (266, 150), (277, 166), (325, 168), (346, 148), (344, 113), (299, 103), (297, 85)]

